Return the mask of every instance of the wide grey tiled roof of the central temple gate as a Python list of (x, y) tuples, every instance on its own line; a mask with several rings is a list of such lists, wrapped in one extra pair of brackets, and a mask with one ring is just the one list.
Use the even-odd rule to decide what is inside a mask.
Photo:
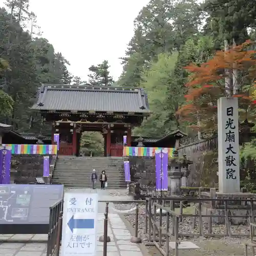
[(140, 88), (44, 85), (34, 110), (150, 113)]

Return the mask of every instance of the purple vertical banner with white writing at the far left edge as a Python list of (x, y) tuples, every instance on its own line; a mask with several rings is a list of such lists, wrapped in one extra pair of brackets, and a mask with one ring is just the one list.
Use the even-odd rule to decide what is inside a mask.
[(0, 150), (0, 184), (10, 184), (12, 152), (3, 148)]

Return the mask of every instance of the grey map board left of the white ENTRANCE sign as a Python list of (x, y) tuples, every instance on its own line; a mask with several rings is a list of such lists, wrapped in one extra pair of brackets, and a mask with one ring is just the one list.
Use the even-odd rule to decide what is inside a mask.
[(0, 184), (0, 224), (49, 224), (63, 185)]

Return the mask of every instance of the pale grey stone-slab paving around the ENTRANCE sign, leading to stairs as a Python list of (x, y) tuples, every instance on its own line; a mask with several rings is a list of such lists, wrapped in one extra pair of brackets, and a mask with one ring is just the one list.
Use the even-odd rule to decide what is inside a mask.
[[(116, 190), (116, 189), (115, 189)], [(97, 193), (99, 200), (129, 200), (130, 198), (119, 198), (110, 196), (112, 189), (68, 189), (68, 192), (84, 192)], [(112, 191), (113, 192), (113, 191)], [(108, 236), (111, 242), (108, 243), (108, 256), (143, 256), (139, 245), (130, 242), (132, 234), (125, 226), (119, 215), (113, 210), (114, 204), (109, 204), (109, 221), (108, 221)], [(97, 253), (96, 256), (102, 256), (103, 243), (99, 242), (99, 237), (103, 234), (103, 222), (105, 203), (98, 204), (98, 230), (97, 230)], [(47, 251), (47, 234), (0, 234), (0, 240), (28, 240), (29, 243), (0, 243), (0, 256), (46, 256)], [(38, 242), (33, 242), (38, 241)]]

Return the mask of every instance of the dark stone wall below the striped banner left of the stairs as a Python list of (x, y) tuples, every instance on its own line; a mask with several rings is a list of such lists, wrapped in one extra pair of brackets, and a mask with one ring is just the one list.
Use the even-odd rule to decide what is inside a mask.
[[(50, 156), (51, 163), (52, 156)], [(42, 177), (44, 172), (44, 157), (39, 155), (12, 155), (11, 183), (19, 184), (35, 182), (35, 177)]]

